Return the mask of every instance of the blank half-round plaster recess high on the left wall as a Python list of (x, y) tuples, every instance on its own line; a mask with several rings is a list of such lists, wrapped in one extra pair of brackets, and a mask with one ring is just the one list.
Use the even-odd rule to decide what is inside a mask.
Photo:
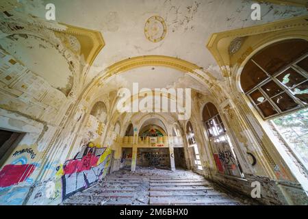
[(0, 46), (53, 88), (66, 95), (70, 92), (73, 73), (67, 60), (51, 44), (34, 36), (15, 34), (1, 38)]

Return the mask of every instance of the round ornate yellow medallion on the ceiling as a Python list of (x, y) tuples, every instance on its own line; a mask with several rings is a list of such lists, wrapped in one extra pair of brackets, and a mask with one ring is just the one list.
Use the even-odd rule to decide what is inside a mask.
[(161, 16), (151, 16), (144, 25), (144, 34), (151, 42), (159, 42), (166, 36), (167, 26)]

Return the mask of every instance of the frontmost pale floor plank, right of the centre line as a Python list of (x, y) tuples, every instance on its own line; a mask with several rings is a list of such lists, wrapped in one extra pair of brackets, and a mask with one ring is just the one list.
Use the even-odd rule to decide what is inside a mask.
[(185, 204), (222, 204), (236, 203), (228, 198), (195, 198), (195, 197), (150, 197), (150, 205), (185, 205)]

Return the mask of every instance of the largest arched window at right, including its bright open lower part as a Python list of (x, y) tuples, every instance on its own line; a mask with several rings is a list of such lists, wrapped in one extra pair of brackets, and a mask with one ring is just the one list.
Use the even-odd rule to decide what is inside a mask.
[(308, 42), (283, 40), (251, 57), (240, 83), (255, 109), (308, 166)]

